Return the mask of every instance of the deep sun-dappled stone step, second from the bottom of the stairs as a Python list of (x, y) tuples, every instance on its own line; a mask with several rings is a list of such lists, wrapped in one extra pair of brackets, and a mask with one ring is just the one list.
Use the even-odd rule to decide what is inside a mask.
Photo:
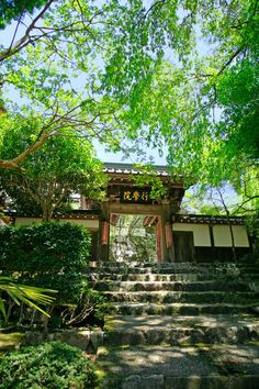
[(259, 341), (259, 320), (251, 315), (110, 316), (104, 332), (104, 344), (112, 346), (236, 344)]

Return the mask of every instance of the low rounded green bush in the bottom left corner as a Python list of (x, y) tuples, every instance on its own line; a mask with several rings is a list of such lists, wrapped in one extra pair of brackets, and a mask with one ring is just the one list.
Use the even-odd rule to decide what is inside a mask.
[(93, 389), (93, 365), (76, 347), (44, 343), (0, 357), (0, 389)]

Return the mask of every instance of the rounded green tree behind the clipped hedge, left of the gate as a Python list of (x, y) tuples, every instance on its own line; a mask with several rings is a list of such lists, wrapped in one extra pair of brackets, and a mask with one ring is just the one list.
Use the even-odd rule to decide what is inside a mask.
[[(20, 127), (10, 127), (3, 138), (4, 156), (19, 154), (26, 148), (37, 133), (37, 123), (20, 122)], [(41, 120), (38, 119), (38, 125)], [(41, 210), (48, 221), (53, 211), (71, 201), (72, 193), (90, 199), (102, 198), (105, 178), (102, 164), (94, 157), (91, 144), (77, 136), (75, 130), (53, 136), (29, 155), (23, 169), (7, 169), (0, 177), (0, 186), (20, 210)]]

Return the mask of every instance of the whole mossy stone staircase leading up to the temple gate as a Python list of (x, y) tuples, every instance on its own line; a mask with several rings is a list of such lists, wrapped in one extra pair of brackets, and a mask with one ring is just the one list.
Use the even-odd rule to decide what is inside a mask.
[(258, 266), (103, 263), (88, 277), (109, 301), (100, 388), (258, 387)]

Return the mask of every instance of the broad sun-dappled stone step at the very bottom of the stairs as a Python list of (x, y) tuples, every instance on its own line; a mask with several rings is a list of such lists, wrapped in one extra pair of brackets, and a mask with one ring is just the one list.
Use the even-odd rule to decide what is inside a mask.
[(100, 348), (100, 389), (257, 389), (252, 345)]

